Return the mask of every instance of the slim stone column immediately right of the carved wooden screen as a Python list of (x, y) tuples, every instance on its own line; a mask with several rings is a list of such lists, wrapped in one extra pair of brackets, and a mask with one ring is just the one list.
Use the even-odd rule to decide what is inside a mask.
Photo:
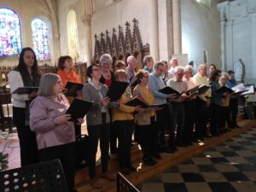
[(149, 20), (149, 52), (154, 61), (159, 61), (158, 7), (157, 0), (148, 1)]

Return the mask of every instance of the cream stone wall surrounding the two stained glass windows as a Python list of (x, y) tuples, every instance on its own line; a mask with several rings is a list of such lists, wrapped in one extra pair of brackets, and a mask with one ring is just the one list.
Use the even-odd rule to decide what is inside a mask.
[[(32, 44), (32, 20), (39, 18), (44, 20), (49, 26), (49, 45), (50, 45), (50, 61), (39, 61), (39, 65), (47, 63), (55, 64), (55, 59), (58, 58), (59, 45), (55, 38), (54, 27), (52, 26), (52, 17), (49, 7), (44, 0), (1, 0), (0, 7), (13, 9), (20, 17), (21, 44), (22, 47), (33, 47)], [(55, 9), (55, 8), (54, 8)], [(18, 63), (16, 57), (0, 57), (1, 66), (15, 66)]]

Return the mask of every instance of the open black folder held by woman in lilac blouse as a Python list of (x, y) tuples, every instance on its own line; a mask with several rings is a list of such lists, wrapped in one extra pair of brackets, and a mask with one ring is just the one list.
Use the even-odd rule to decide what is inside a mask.
[(77, 122), (77, 119), (84, 118), (84, 115), (90, 110), (94, 102), (87, 102), (82, 99), (74, 98), (67, 109), (66, 114), (71, 114), (71, 121)]

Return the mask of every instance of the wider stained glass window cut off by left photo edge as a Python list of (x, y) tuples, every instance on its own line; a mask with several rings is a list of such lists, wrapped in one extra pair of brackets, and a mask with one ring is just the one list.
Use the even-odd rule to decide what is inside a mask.
[(20, 51), (20, 19), (15, 11), (0, 8), (0, 56), (19, 55)]

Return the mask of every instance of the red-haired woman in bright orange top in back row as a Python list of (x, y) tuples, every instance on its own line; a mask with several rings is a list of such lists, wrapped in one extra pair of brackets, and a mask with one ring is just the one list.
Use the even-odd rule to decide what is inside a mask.
[[(58, 61), (58, 72), (61, 77), (63, 87), (66, 86), (67, 81), (82, 84), (82, 81), (77, 73), (73, 71), (73, 59), (69, 55), (61, 56)], [(82, 97), (82, 90), (77, 92), (78, 97)], [(73, 102), (73, 96), (67, 96), (69, 103)], [(76, 137), (81, 135), (81, 125), (75, 125)]]

